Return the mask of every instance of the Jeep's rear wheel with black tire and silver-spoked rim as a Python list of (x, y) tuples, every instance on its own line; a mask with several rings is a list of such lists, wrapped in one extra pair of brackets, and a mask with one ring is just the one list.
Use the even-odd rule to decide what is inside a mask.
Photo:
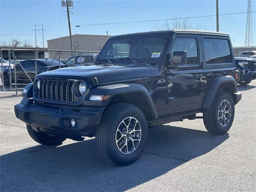
[(211, 108), (204, 110), (204, 126), (212, 134), (224, 134), (230, 130), (234, 114), (234, 100), (231, 94), (225, 90), (218, 90)]

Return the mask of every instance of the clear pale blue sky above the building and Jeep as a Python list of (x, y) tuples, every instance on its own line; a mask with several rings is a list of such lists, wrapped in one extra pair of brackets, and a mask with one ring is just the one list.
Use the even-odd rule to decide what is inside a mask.
[[(125, 34), (154, 30), (163, 22), (144, 22), (131, 24), (111, 24), (96, 26), (75, 25), (129, 22), (138, 20), (157, 20), (173, 17), (193, 17), (214, 15), (215, 0), (73, 0), (73, 14), (70, 16), (72, 34)], [(118, 3), (122, 2), (122, 3)], [(108, 4), (108, 5), (99, 5)], [(96, 6), (95, 6), (96, 5)], [(87, 6), (87, 7), (84, 7)], [(64, 8), (65, 9), (65, 8)], [(247, 0), (219, 0), (219, 14), (246, 12)], [(256, 11), (256, 0), (252, 0), (252, 11)], [(256, 45), (256, 13), (252, 13), (253, 44)], [(205, 30), (216, 30), (216, 18), (189, 19)], [(66, 12), (60, 0), (0, 0), (0, 43), (15, 38), (23, 42), (35, 42), (31, 34), (35, 24), (43, 24), (47, 30), (44, 42), (48, 39), (68, 35)], [(40, 26), (37, 26), (38, 29)], [(233, 46), (244, 46), (246, 14), (220, 16), (220, 32), (230, 34)], [(10, 35), (24, 34), (24, 35)], [(42, 46), (42, 34), (37, 42)]]

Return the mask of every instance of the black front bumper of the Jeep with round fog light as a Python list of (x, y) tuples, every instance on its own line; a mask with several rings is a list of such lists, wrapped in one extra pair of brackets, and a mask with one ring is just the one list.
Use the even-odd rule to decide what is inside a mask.
[[(14, 106), (16, 117), (30, 124), (35, 131), (73, 140), (83, 140), (82, 136), (94, 136), (104, 109), (105, 107), (42, 106), (26, 98)], [(72, 119), (76, 121), (75, 127), (71, 126)]]

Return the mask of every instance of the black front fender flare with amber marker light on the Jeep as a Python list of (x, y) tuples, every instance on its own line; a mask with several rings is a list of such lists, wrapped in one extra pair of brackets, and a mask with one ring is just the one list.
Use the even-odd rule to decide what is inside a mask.
[[(154, 119), (158, 118), (156, 107), (150, 96), (148, 90), (138, 83), (126, 83), (126, 84), (112, 84), (99, 86), (96, 88), (91, 88), (86, 97), (84, 98), (83, 104), (85, 106), (107, 106), (111, 98), (117, 95), (122, 95), (126, 93), (140, 93), (144, 97), (148, 104), (148, 110)], [(91, 95), (111, 95), (111, 98), (106, 101), (90, 101), (89, 98)]]

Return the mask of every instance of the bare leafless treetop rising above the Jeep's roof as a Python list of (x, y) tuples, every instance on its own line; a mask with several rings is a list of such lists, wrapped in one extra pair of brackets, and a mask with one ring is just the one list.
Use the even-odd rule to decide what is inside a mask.
[(166, 20), (160, 26), (156, 24), (156, 26), (153, 28), (155, 30), (176, 30), (176, 29), (202, 30), (200, 23), (194, 25), (192, 22), (188, 21), (188, 18), (185, 18), (185, 19), (174, 18), (173, 20)]

